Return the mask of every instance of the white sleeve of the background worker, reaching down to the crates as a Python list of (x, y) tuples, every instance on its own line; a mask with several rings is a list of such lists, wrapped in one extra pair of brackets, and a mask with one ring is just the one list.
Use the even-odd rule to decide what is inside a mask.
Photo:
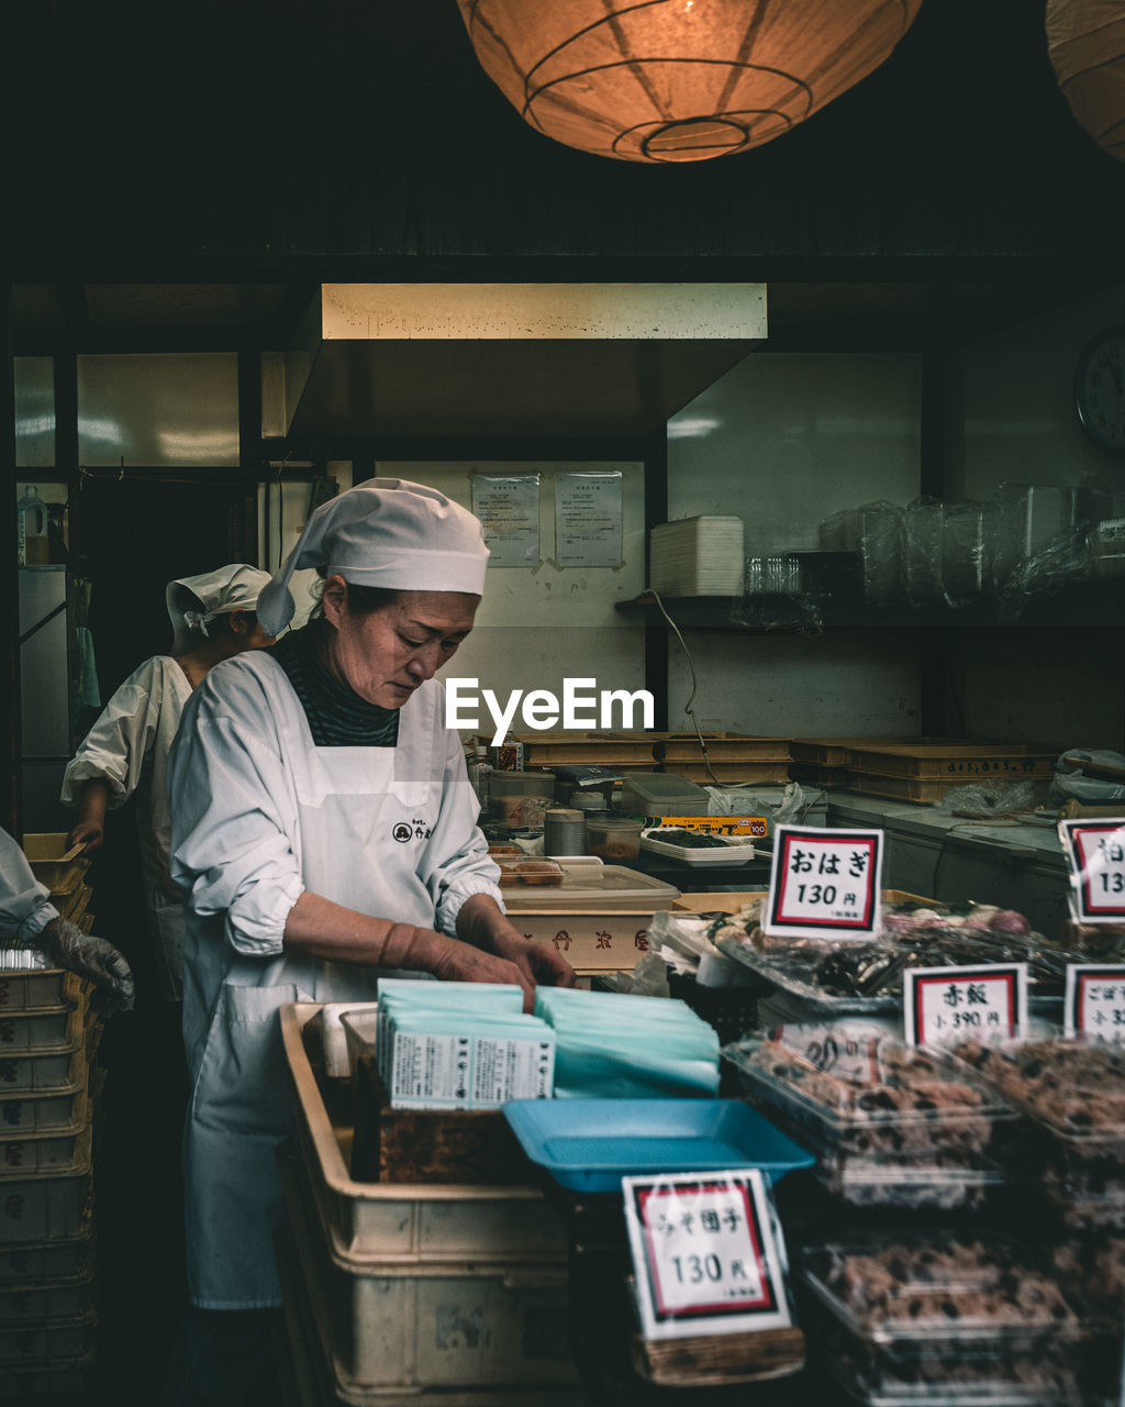
[(80, 803), (87, 781), (108, 784), (111, 809), (132, 796), (160, 723), (162, 696), (160, 666), (146, 660), (114, 694), (68, 763), (62, 779), (65, 805)]

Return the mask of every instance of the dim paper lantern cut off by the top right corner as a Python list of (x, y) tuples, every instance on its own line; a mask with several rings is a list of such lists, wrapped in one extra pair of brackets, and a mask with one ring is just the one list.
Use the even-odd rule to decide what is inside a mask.
[(1046, 46), (1080, 125), (1125, 162), (1125, 7), (1121, 0), (1048, 0)]

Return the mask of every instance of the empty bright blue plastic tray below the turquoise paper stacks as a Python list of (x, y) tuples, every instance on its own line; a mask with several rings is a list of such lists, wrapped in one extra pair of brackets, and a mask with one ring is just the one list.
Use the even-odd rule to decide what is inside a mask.
[(811, 1168), (797, 1147), (738, 1099), (515, 1099), (503, 1113), (532, 1162), (574, 1192), (617, 1192), (645, 1172), (761, 1168), (778, 1182)]

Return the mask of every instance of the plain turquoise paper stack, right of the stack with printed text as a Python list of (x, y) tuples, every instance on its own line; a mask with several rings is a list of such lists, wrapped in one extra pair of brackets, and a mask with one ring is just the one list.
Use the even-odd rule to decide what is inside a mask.
[(713, 1099), (719, 1090), (719, 1036), (683, 1002), (540, 986), (536, 1016), (554, 1027), (557, 1099)]

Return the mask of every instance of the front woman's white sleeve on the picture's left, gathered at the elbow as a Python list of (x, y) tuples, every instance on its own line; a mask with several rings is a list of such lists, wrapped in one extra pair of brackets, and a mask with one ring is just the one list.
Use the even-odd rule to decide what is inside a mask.
[(225, 915), (236, 953), (273, 957), (305, 889), (297, 801), (266, 689), (235, 664), (210, 671), (172, 744), (172, 878), (194, 913)]

